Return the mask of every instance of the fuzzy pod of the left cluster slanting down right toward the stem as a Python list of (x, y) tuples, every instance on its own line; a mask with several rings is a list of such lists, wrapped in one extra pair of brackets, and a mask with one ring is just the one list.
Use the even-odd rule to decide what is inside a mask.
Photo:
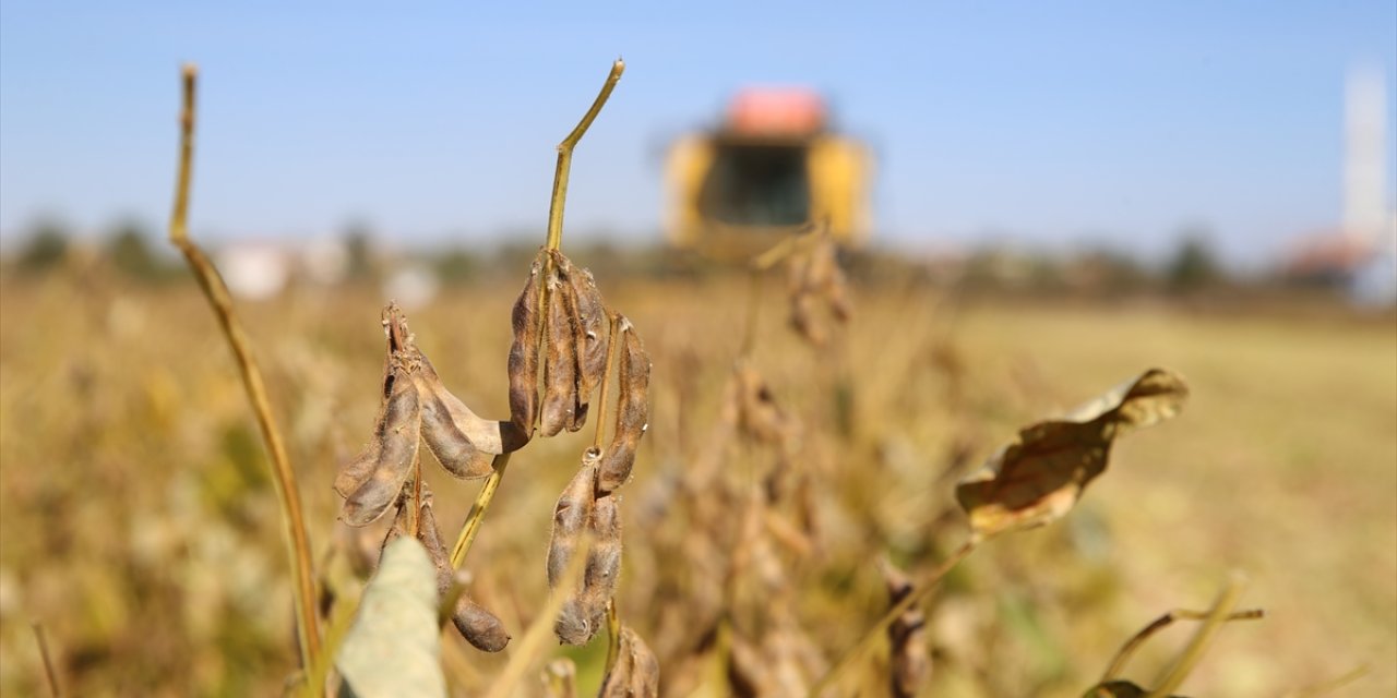
[(414, 374), (422, 399), (422, 438), (441, 468), (455, 477), (485, 477), (495, 472), (492, 459), (504, 451), (500, 423), (471, 412), (437, 377), (426, 355)]

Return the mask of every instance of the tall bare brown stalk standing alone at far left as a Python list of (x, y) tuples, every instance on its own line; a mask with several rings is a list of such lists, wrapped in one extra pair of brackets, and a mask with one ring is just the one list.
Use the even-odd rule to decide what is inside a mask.
[(233, 313), (233, 300), (224, 285), (218, 269), (208, 260), (204, 251), (189, 239), (189, 183), (194, 154), (194, 87), (198, 68), (193, 64), (184, 66), (184, 109), (180, 113), (180, 155), (179, 180), (175, 188), (175, 209), (170, 214), (170, 243), (184, 253), (194, 278), (198, 279), (204, 297), (214, 309), (224, 336), (233, 350), (237, 369), (243, 377), (243, 387), (247, 389), (247, 401), (257, 415), (257, 426), (261, 430), (263, 443), (271, 454), (272, 482), (277, 483), (277, 494), (281, 498), (281, 518), (286, 526), (286, 543), (291, 551), (291, 567), (296, 578), (296, 634), (300, 639), (300, 666), (309, 670), (320, 655), (320, 630), (316, 618), (316, 577), (310, 561), (310, 542), (306, 536), (306, 519), (300, 511), (300, 490), (296, 487), (296, 472), (286, 458), (286, 445), (282, 443), (281, 431), (271, 417), (271, 403), (267, 399), (267, 387), (263, 383), (261, 371), (257, 369), (257, 359), (253, 357), (251, 343), (243, 332), (237, 315)]

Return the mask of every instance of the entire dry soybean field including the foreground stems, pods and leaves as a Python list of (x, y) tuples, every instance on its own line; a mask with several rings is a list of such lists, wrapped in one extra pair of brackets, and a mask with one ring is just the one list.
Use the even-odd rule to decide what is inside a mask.
[[(1397, 687), (1390, 315), (851, 293), (820, 235), (752, 279), (594, 279), (562, 202), (622, 68), (532, 268), (416, 332), (366, 288), (247, 304), (264, 374), (183, 236), (186, 73), (172, 242), (272, 468), (191, 286), (0, 282), (0, 691), (41, 691), (45, 638), (82, 695)], [(1113, 445), (1180, 373), (1185, 417)]]

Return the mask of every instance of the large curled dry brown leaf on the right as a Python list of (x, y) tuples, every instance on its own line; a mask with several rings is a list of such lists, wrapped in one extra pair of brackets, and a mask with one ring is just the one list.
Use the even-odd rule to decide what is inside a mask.
[(1118, 436), (1178, 415), (1187, 394), (1176, 374), (1151, 369), (1067, 419), (1021, 430), (1016, 443), (956, 486), (974, 535), (989, 537), (1062, 518), (1106, 469)]

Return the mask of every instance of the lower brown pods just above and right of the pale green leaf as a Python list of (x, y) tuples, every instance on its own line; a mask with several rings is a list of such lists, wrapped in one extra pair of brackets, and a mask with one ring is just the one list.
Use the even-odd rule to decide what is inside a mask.
[[(416, 537), (436, 567), (437, 593), (441, 599), (446, 599), (455, 581), (455, 570), (451, 567), (451, 558), (446, 551), (446, 546), (441, 544), (441, 532), (437, 528), (436, 515), (432, 512), (432, 491), (427, 490), (426, 483), (422, 483), (420, 501), (422, 505), (416, 512)], [(398, 537), (412, 535), (412, 486), (409, 483), (398, 497), (398, 512), (393, 519), (388, 535), (383, 540), (381, 549), (387, 549), (388, 543)], [(510, 642), (510, 635), (504, 631), (504, 624), (500, 623), (500, 618), (471, 600), (465, 593), (457, 596), (451, 611), (451, 624), (455, 625), (455, 630), (467, 642), (483, 652), (499, 652)]]

